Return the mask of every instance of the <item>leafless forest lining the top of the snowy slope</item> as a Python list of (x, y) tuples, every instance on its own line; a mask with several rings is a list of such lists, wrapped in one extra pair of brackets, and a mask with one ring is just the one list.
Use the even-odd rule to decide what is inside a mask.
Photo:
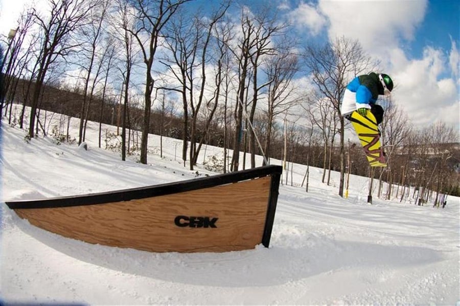
[[(339, 108), (344, 88), (379, 69), (359, 41), (301, 45), (275, 11), (233, 1), (41, 4), (45, 11), (26, 8), (17, 28), (0, 38), (0, 113), (28, 139), (53, 131), (80, 144), (90, 120), (119, 126), (123, 160), (136, 152), (148, 163), (147, 136), (154, 133), (182, 139), (181, 158), (191, 170), (211, 144), (232, 154), (221, 172), (261, 166), (255, 156), (262, 155), (264, 163), (286, 161), (287, 170), (292, 162), (323, 168), (324, 184), (339, 171), (340, 196), (348, 173), (378, 177), (397, 186), (401, 201), (412, 197), (419, 205), (440, 207), (448, 194), (460, 195), (453, 126), (439, 121), (415, 129), (389, 98), (381, 125), (387, 167), (370, 169), (361, 146), (347, 139), (350, 124)], [(20, 116), (12, 115), (12, 104), (22, 106)], [(49, 129), (39, 116), (45, 111), (63, 114), (61, 126)], [(79, 135), (68, 135), (70, 117), (80, 119)], [(104, 137), (100, 130), (99, 146)], [(378, 188), (378, 196), (395, 196), (395, 188), (386, 190)]]

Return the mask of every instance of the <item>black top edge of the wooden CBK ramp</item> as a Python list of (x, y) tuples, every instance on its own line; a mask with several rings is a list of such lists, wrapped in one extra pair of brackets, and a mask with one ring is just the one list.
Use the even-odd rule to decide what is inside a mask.
[[(39, 208), (58, 208), (58, 207), (72, 207), (84, 205), (97, 205), (110, 202), (130, 201), (134, 199), (148, 198), (160, 195), (168, 195), (185, 191), (198, 190), (203, 188), (210, 188), (225, 184), (237, 183), (257, 177), (281, 175), (282, 167), (276, 165), (268, 165), (252, 169), (246, 169), (236, 172), (229, 172), (224, 174), (217, 174), (208, 177), (200, 177), (198, 179), (191, 179), (186, 181), (179, 181), (167, 184), (152, 185), (147, 187), (123, 189), (116, 191), (108, 191), (101, 193), (92, 193), (75, 196), (63, 196), (55, 198), (45, 198), (36, 200), (19, 200), (19, 201), (5, 201), (10, 209), (39, 209)], [(273, 181), (273, 177), (272, 177)], [(272, 183), (273, 184), (273, 183)], [(273, 188), (273, 185), (271, 186)], [(272, 191), (270, 191), (272, 192)], [(278, 189), (276, 190), (278, 193)], [(269, 196), (272, 201), (272, 194)], [(276, 201), (276, 199), (274, 199)], [(275, 203), (276, 204), (276, 203)], [(273, 206), (273, 205), (271, 205)], [(267, 212), (268, 215), (268, 212)], [(274, 212), (273, 212), (274, 217)], [(271, 221), (273, 222), (273, 220)], [(264, 231), (265, 232), (265, 231)], [(271, 232), (271, 231), (270, 231)]]

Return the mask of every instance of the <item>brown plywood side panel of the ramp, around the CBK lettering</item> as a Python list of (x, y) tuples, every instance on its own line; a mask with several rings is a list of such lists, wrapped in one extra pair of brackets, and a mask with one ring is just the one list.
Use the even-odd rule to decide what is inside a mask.
[[(262, 241), (270, 176), (170, 195), (42, 209), (15, 209), (31, 224), (89, 243), (154, 252), (222, 252)], [(218, 218), (213, 227), (179, 227), (177, 216)]]

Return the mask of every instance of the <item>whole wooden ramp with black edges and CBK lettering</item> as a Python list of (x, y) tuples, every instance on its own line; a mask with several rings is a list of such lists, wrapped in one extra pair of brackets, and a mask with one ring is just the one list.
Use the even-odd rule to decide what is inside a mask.
[(44, 230), (89, 243), (152, 252), (268, 247), (282, 167), (113, 192), (7, 201)]

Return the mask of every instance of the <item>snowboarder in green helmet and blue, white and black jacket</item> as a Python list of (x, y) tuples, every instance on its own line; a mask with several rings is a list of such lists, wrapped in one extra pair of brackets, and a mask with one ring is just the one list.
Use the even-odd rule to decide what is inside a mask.
[(383, 120), (383, 108), (376, 104), (379, 95), (389, 95), (393, 90), (393, 81), (388, 74), (371, 72), (354, 78), (345, 89), (340, 113), (350, 119), (351, 113), (357, 111), (365, 116), (367, 110), (380, 124)]

